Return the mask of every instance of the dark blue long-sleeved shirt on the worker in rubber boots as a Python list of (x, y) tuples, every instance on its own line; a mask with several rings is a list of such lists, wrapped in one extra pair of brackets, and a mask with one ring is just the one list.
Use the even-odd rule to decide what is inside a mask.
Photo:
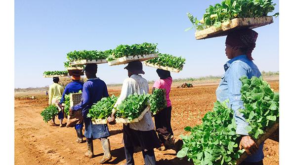
[(109, 97), (105, 82), (99, 78), (90, 78), (84, 83), (82, 102), (73, 106), (72, 109), (82, 109), (83, 117), (86, 118), (89, 108), (91, 108), (93, 103), (105, 97)]

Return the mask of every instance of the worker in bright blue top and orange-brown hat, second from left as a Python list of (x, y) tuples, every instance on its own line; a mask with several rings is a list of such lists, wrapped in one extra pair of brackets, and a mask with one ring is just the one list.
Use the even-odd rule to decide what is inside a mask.
[[(83, 90), (84, 83), (80, 81), (80, 79), (81, 79), (80, 73), (73, 72), (71, 78), (72, 78), (73, 82), (71, 82), (65, 86), (64, 92), (62, 94), (62, 98), (59, 102), (60, 106), (65, 100), (65, 95), (69, 95), (70, 93), (78, 93), (80, 90)], [(76, 124), (75, 129), (76, 129), (77, 136), (78, 136), (78, 139), (76, 141), (78, 143), (82, 143), (83, 142), (83, 123)]]

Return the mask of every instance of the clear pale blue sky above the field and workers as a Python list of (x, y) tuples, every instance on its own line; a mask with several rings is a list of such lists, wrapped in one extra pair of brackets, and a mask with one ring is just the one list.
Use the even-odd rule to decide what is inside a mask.
[[(279, 1), (273, 0), (279, 12)], [(158, 43), (161, 53), (186, 58), (173, 78), (221, 75), (226, 58), (225, 36), (196, 40), (186, 13), (201, 18), (210, 4), (220, 0), (15, 0), (15, 88), (52, 83), (44, 71), (64, 70), (66, 54), (74, 50), (107, 50), (120, 44)], [(258, 33), (252, 53), (260, 71), (279, 70), (279, 18), (254, 29)], [(97, 76), (122, 83), (125, 65), (98, 66)], [(147, 80), (156, 69), (143, 66)]]

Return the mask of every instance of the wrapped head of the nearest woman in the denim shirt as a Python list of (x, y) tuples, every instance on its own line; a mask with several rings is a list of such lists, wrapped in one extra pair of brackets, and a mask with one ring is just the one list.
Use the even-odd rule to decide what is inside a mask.
[(255, 41), (258, 33), (252, 29), (236, 30), (227, 35), (225, 53), (228, 59), (233, 59), (239, 55), (247, 55), (253, 60), (252, 51), (255, 48)]

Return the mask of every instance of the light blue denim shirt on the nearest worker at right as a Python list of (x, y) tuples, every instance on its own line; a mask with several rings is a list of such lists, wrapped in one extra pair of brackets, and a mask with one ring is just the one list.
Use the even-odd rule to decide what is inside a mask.
[[(229, 60), (224, 65), (225, 73), (221, 77), (219, 86), (216, 89), (216, 99), (218, 101), (224, 101), (229, 99), (229, 107), (234, 111), (234, 118), (237, 124), (237, 134), (248, 135), (245, 127), (248, 126), (244, 115), (239, 112), (239, 109), (244, 109), (243, 101), (241, 100), (241, 87), (242, 82), (240, 78), (246, 75), (248, 78), (252, 76), (259, 77), (261, 73), (258, 67), (249, 60), (246, 55), (237, 56)], [(246, 162), (258, 162), (264, 158), (263, 143), (260, 144), (256, 154), (249, 156)]]

